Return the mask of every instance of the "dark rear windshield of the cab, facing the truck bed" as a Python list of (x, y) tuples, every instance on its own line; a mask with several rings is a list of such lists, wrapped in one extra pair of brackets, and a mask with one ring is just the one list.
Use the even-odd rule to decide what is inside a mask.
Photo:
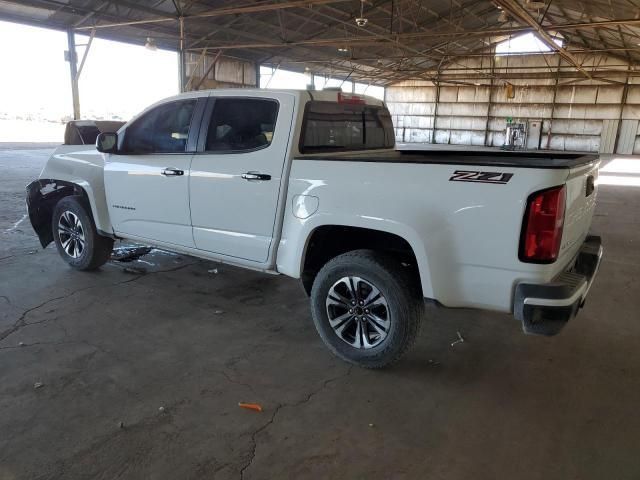
[(393, 123), (384, 107), (308, 102), (300, 138), (302, 153), (393, 148)]

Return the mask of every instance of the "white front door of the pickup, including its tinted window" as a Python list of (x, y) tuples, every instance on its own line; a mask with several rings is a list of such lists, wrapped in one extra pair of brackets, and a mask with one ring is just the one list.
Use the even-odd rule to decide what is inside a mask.
[(190, 127), (205, 104), (206, 98), (164, 103), (120, 133), (119, 151), (109, 155), (104, 168), (107, 205), (117, 234), (195, 246), (189, 166), (197, 132)]

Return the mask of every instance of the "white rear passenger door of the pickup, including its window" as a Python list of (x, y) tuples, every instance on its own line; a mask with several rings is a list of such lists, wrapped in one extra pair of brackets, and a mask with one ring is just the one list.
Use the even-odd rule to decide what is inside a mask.
[(264, 263), (274, 235), (295, 97), (233, 95), (209, 97), (203, 116), (191, 162), (193, 238), (198, 249)]

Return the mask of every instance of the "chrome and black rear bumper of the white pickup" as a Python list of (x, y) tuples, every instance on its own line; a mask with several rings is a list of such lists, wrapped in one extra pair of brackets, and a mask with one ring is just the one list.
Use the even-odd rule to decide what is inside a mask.
[(518, 284), (513, 314), (525, 333), (555, 335), (578, 314), (598, 273), (602, 252), (600, 237), (589, 236), (572, 268), (553, 281)]

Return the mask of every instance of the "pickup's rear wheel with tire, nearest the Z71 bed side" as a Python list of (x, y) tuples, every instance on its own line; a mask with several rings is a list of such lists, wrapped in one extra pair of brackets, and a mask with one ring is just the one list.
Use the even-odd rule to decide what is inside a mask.
[(329, 349), (365, 368), (386, 367), (413, 345), (423, 299), (392, 257), (355, 250), (330, 260), (311, 291), (313, 321)]

